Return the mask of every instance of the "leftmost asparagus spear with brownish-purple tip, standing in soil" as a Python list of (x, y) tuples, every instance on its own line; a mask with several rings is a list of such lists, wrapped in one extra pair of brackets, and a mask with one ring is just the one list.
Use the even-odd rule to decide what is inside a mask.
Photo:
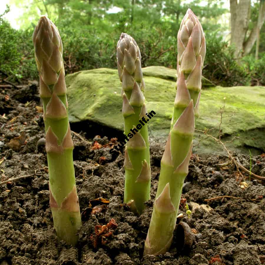
[(32, 39), (43, 100), (54, 227), (60, 239), (75, 245), (78, 239), (76, 232), (82, 222), (75, 185), (74, 145), (68, 121), (62, 40), (58, 29), (46, 16), (39, 19)]

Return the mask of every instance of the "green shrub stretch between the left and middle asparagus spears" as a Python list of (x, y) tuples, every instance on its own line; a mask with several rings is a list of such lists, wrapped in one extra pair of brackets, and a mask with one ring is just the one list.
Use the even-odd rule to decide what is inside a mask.
[(100, 67), (116, 67), (117, 37), (95, 27), (82, 28), (65, 21), (56, 24), (63, 42), (66, 73)]

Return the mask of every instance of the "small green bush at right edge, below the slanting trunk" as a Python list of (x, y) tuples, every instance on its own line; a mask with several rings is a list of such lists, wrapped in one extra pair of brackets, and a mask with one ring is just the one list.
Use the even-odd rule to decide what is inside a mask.
[(245, 56), (242, 63), (251, 77), (251, 85), (265, 86), (265, 52), (259, 60), (256, 60), (253, 55)]

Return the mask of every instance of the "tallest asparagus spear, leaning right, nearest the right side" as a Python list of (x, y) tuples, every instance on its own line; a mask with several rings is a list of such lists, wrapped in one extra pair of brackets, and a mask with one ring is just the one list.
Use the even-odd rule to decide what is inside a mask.
[(173, 239), (182, 187), (188, 175), (195, 118), (199, 115), (205, 53), (203, 29), (188, 9), (178, 31), (177, 93), (144, 255), (164, 254)]

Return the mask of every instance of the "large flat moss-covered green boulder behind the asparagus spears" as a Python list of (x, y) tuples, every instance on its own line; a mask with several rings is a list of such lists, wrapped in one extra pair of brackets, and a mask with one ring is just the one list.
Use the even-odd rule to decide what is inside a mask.
[[(173, 113), (176, 71), (155, 66), (143, 68), (143, 74), (148, 112), (156, 113), (148, 122), (149, 135), (165, 139)], [(66, 84), (70, 122), (92, 122), (110, 127), (112, 132), (123, 130), (121, 82), (117, 70), (100, 68), (76, 72), (66, 76)], [(265, 152), (264, 97), (264, 87), (213, 87), (209, 80), (203, 79), (196, 129), (209, 130), (209, 134), (218, 137), (221, 122), (221, 139), (233, 139), (227, 143), (228, 148), (243, 152), (251, 149), (254, 154)], [(107, 131), (105, 135), (115, 136)], [(195, 145), (204, 137), (203, 132), (196, 132)], [(208, 138), (200, 141), (194, 150), (213, 154), (222, 152), (223, 148)]]

